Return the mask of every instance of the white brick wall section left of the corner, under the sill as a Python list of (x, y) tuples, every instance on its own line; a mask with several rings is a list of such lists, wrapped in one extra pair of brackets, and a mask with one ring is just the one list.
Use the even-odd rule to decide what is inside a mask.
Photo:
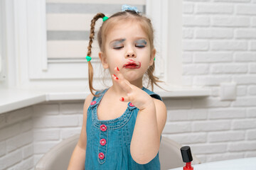
[(33, 169), (33, 108), (0, 115), (0, 169)]

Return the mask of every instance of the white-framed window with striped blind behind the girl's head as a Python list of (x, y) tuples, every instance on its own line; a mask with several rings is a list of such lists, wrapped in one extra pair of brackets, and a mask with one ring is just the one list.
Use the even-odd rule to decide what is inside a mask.
[[(88, 21), (96, 12), (108, 15), (120, 11), (125, 1), (95, 0), (94, 4), (91, 3), (89, 0), (28, 0), (13, 4), (14, 67), (18, 69), (16, 85), (19, 88), (59, 89), (73, 86), (87, 89), (85, 55), (90, 28)], [(152, 19), (158, 51), (156, 75), (166, 82), (181, 85), (182, 1), (127, 0), (127, 4), (138, 6)], [(97, 72), (100, 70), (97, 42), (92, 46), (94, 85), (97, 88), (97, 85), (101, 86), (97, 79), (100, 76)]]

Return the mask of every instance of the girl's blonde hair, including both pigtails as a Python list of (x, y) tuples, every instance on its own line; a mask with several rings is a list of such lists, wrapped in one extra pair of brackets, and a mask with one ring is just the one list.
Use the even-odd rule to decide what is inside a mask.
[[(99, 18), (103, 18), (103, 17), (105, 17), (105, 14), (97, 13), (91, 21), (90, 41), (89, 41), (89, 45), (87, 47), (88, 48), (87, 56), (91, 56), (91, 54), (92, 54), (92, 41), (95, 37), (95, 23)], [(154, 49), (154, 30), (153, 30), (153, 27), (151, 25), (150, 19), (146, 18), (145, 16), (140, 15), (139, 13), (137, 13), (135, 11), (127, 10), (127, 11), (114, 13), (112, 16), (110, 16), (110, 18), (107, 19), (107, 21), (104, 21), (102, 23), (102, 26), (100, 27), (100, 30), (97, 33), (97, 41), (99, 43), (100, 50), (102, 52), (105, 51), (105, 40), (106, 40), (106, 37), (107, 37), (107, 32), (113, 27), (114, 24), (117, 24), (121, 21), (127, 21), (127, 20), (134, 21), (142, 27), (142, 30), (144, 30), (146, 35), (149, 35), (149, 44), (151, 45), (151, 50)], [(159, 81), (158, 77), (154, 76), (154, 74), (153, 74), (154, 73), (154, 68), (155, 68), (155, 66), (154, 66), (154, 63), (153, 63), (153, 65), (151, 65), (149, 67), (149, 69), (147, 69), (147, 71), (146, 71), (146, 75), (149, 79), (149, 82), (148, 82), (147, 86), (149, 86), (149, 84), (151, 84), (151, 90), (152, 91), (154, 90), (154, 84), (156, 84), (156, 86), (159, 86), (159, 84), (157, 84), (157, 82), (162, 82), (162, 81)], [(93, 68), (92, 68), (92, 64), (91, 64), (90, 61), (88, 62), (88, 74), (89, 74), (90, 92), (92, 93), (93, 96), (99, 96), (99, 95), (95, 95), (93, 93), (93, 91), (97, 91), (97, 90), (94, 89), (93, 86), (92, 86)]]

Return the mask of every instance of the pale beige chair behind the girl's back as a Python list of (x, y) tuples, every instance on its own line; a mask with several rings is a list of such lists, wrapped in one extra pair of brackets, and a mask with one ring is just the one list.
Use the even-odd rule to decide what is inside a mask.
[[(36, 170), (63, 170), (68, 168), (73, 149), (78, 142), (80, 135), (74, 135), (63, 140), (55, 147), (51, 148), (36, 164)], [(161, 170), (174, 169), (184, 166), (181, 158), (181, 145), (169, 138), (162, 137), (159, 149), (159, 159)], [(201, 164), (193, 155), (192, 164)]]

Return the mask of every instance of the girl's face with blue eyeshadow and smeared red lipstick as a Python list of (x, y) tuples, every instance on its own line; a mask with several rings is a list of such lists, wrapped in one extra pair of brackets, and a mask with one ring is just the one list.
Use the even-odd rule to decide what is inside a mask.
[(111, 28), (105, 41), (105, 52), (100, 52), (103, 67), (114, 74), (118, 67), (128, 81), (142, 79), (154, 63), (155, 49), (151, 49), (148, 35), (136, 22), (128, 21)]

